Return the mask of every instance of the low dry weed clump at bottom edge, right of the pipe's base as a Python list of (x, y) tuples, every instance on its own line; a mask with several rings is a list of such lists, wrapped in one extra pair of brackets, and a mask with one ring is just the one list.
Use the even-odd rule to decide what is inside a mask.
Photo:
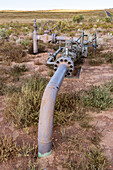
[[(64, 159), (59, 158), (59, 165), (62, 169), (70, 170), (95, 170), (107, 169), (109, 162), (103, 154), (103, 150), (98, 147), (87, 147), (84, 145), (83, 136), (73, 135), (66, 138), (63, 142), (61, 153), (66, 154)], [(87, 142), (85, 140), (85, 142)], [(59, 149), (59, 150), (60, 150)], [(60, 154), (59, 154), (60, 155)], [(59, 156), (60, 157), (60, 156)]]

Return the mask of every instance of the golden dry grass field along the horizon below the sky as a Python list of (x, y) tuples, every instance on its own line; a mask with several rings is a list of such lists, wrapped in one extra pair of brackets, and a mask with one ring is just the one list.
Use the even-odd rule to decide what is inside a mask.
[(74, 15), (84, 15), (85, 17), (100, 16), (105, 17), (104, 10), (45, 10), (45, 11), (0, 11), (0, 23), (4, 22), (32, 22), (34, 18), (38, 20), (64, 20), (72, 19)]

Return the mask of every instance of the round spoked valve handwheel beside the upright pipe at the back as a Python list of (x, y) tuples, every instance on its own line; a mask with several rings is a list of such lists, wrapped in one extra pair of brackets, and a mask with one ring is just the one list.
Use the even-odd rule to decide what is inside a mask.
[(58, 35), (59, 27), (54, 21), (48, 21), (43, 26), (43, 33), (49, 34), (49, 35), (52, 35), (52, 34)]

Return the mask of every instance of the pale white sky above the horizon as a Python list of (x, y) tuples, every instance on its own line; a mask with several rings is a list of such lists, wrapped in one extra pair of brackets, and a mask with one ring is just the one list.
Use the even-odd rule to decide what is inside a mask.
[(0, 0), (0, 10), (105, 9), (113, 0)]

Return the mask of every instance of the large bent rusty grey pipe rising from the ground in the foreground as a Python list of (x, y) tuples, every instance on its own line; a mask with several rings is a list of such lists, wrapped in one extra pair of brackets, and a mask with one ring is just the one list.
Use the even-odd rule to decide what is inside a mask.
[(52, 132), (53, 132), (53, 113), (56, 96), (64, 76), (67, 66), (61, 64), (51, 80), (49, 81), (42, 97), (38, 125), (38, 156), (49, 156), (52, 152)]

